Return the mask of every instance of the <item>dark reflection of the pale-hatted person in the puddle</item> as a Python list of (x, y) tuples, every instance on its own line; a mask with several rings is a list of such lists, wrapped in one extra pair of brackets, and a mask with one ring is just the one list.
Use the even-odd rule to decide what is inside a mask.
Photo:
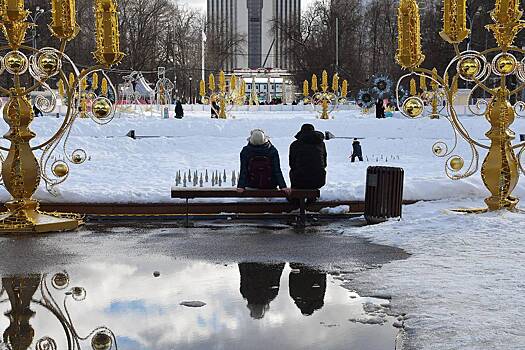
[(279, 294), (279, 283), (284, 263), (240, 263), (240, 291), (248, 301), (250, 316), (256, 319), (264, 317), (270, 309), (270, 302)]

